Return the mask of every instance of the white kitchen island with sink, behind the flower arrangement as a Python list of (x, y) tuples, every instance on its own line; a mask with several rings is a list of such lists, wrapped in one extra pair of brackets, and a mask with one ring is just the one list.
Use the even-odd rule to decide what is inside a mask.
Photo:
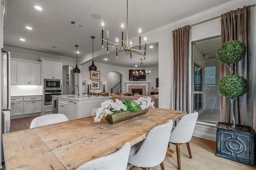
[(111, 98), (111, 96), (93, 95), (56, 95), (52, 97), (58, 98), (58, 113), (66, 115), (69, 120), (92, 116), (92, 109), (100, 107), (102, 102)]

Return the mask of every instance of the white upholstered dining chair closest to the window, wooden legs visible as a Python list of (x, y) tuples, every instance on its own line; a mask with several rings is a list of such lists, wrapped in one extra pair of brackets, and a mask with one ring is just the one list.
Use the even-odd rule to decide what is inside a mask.
[[(196, 125), (196, 120), (198, 117), (198, 112), (190, 113), (184, 115), (178, 125), (172, 127), (172, 133), (170, 135), (169, 144), (172, 143), (176, 145), (177, 160), (178, 160), (178, 169), (181, 169), (180, 166), (180, 145), (186, 143), (188, 148), (188, 154), (192, 158), (189, 141), (192, 138), (193, 131)], [(170, 146), (169, 146), (170, 147)], [(166, 154), (166, 156), (168, 156)]]

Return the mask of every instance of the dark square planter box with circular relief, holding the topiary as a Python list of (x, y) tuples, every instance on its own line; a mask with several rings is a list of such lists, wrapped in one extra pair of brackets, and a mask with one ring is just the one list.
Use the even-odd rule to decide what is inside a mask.
[(215, 155), (256, 167), (256, 133), (252, 127), (236, 125), (237, 127), (246, 127), (250, 129), (251, 133), (248, 133), (233, 129), (225, 129), (219, 127), (219, 124), (231, 125), (231, 123), (217, 123), (217, 147)]

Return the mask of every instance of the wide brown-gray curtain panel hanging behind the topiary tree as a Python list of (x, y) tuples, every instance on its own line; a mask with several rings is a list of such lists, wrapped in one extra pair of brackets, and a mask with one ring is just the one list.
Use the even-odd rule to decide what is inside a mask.
[[(252, 126), (254, 82), (252, 82), (252, 47), (250, 6), (232, 10), (221, 16), (221, 43), (230, 40), (242, 41), (247, 47), (246, 56), (233, 66), (234, 74), (244, 76), (249, 82), (249, 90), (234, 101), (236, 124)], [(220, 78), (229, 74), (228, 67), (220, 63)], [(220, 95), (221, 121), (232, 123), (230, 100)]]

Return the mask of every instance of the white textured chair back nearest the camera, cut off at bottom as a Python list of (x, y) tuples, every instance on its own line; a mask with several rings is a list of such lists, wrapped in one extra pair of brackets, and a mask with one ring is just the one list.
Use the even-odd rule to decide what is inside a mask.
[(130, 148), (130, 143), (126, 142), (120, 150), (110, 155), (86, 162), (77, 170), (126, 170)]

